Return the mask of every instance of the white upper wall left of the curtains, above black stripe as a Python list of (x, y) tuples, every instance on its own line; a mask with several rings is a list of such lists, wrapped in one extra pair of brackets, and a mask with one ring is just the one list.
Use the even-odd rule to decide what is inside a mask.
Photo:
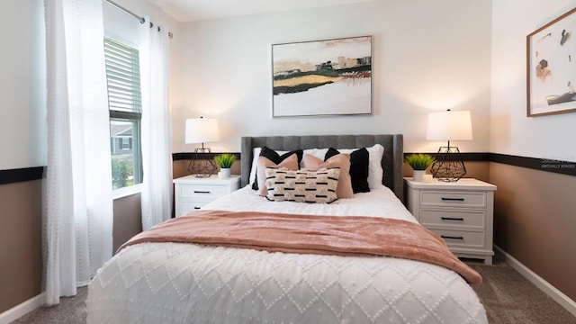
[(0, 170), (44, 166), (44, 4), (4, 0), (0, 13)]

